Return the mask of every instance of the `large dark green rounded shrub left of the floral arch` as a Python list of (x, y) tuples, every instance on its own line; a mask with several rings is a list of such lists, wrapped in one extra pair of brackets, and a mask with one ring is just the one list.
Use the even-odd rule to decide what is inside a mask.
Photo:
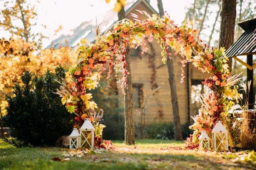
[(3, 122), (11, 136), (24, 145), (54, 145), (58, 137), (72, 131), (73, 115), (68, 113), (61, 98), (54, 94), (64, 77), (64, 68), (43, 76), (24, 72), (22, 83), (15, 85), (14, 96), (7, 96), (7, 114)]

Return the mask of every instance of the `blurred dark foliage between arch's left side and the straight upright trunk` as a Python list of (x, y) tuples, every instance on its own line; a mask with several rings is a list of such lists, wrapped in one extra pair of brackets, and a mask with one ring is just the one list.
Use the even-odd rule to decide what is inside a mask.
[[(103, 130), (103, 139), (124, 139), (124, 110), (119, 103), (118, 90), (116, 87), (116, 79), (111, 75), (109, 79), (106, 79), (107, 75), (102, 74), (100, 86), (96, 89), (92, 89), (90, 93), (93, 94), (93, 99), (98, 105), (99, 109), (104, 110), (104, 117), (102, 123), (106, 125)], [(111, 88), (109, 88), (111, 86)]]

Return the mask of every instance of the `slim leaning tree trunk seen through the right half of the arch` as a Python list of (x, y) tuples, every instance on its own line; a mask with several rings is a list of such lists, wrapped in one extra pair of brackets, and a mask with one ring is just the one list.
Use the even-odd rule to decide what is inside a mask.
[[(160, 17), (164, 15), (162, 0), (157, 0), (157, 7)], [(178, 106), (177, 91), (175, 86), (175, 76), (172, 59), (167, 56), (167, 68), (168, 68), (168, 80), (171, 90), (171, 102), (172, 102), (172, 114), (175, 128), (175, 140), (182, 140), (181, 126), (180, 126), (180, 114)]]

